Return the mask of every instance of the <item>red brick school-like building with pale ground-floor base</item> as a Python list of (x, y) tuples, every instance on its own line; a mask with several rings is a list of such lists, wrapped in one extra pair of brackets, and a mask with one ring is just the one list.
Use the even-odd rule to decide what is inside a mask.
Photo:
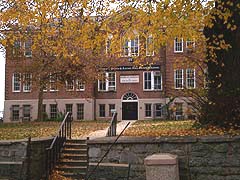
[[(187, 62), (176, 64), (179, 60), (184, 62), (189, 52), (194, 53), (195, 42), (175, 39), (167, 47), (159, 48), (159, 52), (154, 52), (147, 48), (153, 43), (151, 37), (141, 41), (137, 37), (123, 43), (123, 63), (107, 69), (105, 79), (86, 84), (73, 81), (58, 89), (53, 86), (46, 89), (43, 111), (48, 118), (54, 119), (59, 112), (71, 111), (74, 120), (109, 119), (115, 109), (119, 120), (164, 119), (165, 104), (171, 96), (176, 97), (172, 103), (175, 119), (192, 115), (188, 113), (191, 98), (183, 92), (202, 86), (204, 77), (198, 66)], [(15, 42), (16, 47), (23, 44), (24, 56), (31, 62), (31, 44)], [(134, 66), (131, 57), (139, 56), (140, 44), (146, 45), (144, 54), (153, 62), (151, 66)], [(31, 74), (16, 72), (14, 53), (8, 50), (6, 56), (4, 121), (35, 120), (38, 94), (31, 85)]]

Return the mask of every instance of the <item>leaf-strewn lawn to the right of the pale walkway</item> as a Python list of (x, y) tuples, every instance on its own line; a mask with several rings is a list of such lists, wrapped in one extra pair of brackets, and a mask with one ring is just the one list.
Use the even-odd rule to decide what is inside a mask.
[(160, 121), (140, 120), (128, 128), (125, 136), (208, 136), (208, 135), (240, 135), (238, 130), (222, 129), (214, 126), (197, 128), (195, 121)]

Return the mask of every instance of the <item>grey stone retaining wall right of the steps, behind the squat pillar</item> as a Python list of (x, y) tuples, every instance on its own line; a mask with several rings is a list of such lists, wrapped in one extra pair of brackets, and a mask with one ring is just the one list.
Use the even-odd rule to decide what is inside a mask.
[[(89, 161), (99, 161), (114, 140), (89, 140)], [(122, 137), (103, 162), (131, 163), (130, 179), (145, 180), (144, 158), (154, 153), (178, 155), (180, 180), (240, 179), (240, 136)]]

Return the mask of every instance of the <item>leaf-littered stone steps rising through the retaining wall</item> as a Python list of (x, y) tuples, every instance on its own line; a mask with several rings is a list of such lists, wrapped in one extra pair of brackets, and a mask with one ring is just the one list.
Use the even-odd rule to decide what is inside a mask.
[(67, 178), (84, 179), (88, 167), (87, 153), (86, 139), (67, 140), (56, 170)]

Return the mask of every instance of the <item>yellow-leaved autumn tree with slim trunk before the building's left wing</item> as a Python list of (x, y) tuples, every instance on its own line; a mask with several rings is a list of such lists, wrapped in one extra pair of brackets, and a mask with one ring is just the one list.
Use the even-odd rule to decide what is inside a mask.
[(57, 84), (72, 78), (86, 82), (97, 76), (96, 68), (105, 60), (104, 18), (99, 17), (106, 17), (109, 7), (108, 1), (1, 1), (0, 44), (13, 55), (9, 59), (16, 71), (31, 74), (39, 92), (39, 120), (45, 89), (56, 90)]

